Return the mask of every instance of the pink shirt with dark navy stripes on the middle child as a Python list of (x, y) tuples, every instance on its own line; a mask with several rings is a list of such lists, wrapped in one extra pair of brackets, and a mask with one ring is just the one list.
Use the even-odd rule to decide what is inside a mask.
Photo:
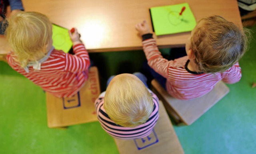
[(106, 113), (103, 104), (104, 104), (104, 96), (105, 92), (102, 92), (98, 99), (95, 101), (95, 107), (96, 107), (96, 113), (98, 116), (98, 120), (102, 126), (102, 128), (112, 137), (119, 138), (123, 140), (130, 140), (130, 139), (136, 139), (136, 138), (144, 138), (153, 131), (154, 126), (156, 125), (156, 121), (159, 117), (159, 99), (158, 97), (149, 90), (153, 97), (154, 102), (154, 109), (149, 117), (149, 119), (146, 121), (146, 123), (138, 125), (136, 127), (130, 128), (130, 127), (122, 127), (120, 125), (117, 125), (108, 117), (108, 114)]

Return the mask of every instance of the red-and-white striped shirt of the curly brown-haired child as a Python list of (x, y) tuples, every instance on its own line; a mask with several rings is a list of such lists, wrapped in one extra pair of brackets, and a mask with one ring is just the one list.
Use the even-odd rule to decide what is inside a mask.
[(222, 73), (192, 74), (185, 68), (188, 56), (175, 60), (162, 57), (155, 39), (142, 42), (148, 65), (167, 79), (168, 94), (178, 99), (194, 99), (210, 92), (220, 80), (228, 84), (236, 83), (242, 77), (238, 62)]

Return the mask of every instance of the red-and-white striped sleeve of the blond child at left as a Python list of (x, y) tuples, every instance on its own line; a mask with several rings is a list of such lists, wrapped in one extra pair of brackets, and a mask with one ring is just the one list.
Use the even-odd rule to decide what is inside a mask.
[(83, 44), (77, 44), (73, 46), (75, 55), (66, 54), (66, 66), (67, 72), (80, 72), (87, 70), (90, 66), (90, 59), (87, 50)]

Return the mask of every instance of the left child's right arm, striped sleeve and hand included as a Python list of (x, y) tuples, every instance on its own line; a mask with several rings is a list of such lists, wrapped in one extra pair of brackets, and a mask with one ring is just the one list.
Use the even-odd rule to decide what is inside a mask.
[(74, 33), (69, 31), (70, 39), (73, 42), (75, 55), (66, 54), (66, 68), (68, 72), (80, 72), (87, 70), (90, 66), (90, 59), (84, 44), (80, 41), (80, 35), (75, 28)]

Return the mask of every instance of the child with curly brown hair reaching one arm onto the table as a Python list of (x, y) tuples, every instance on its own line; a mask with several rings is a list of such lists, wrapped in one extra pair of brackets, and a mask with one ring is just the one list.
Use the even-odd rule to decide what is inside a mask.
[(173, 97), (194, 99), (220, 80), (233, 84), (242, 76), (238, 60), (246, 52), (248, 31), (221, 16), (198, 21), (186, 43), (187, 56), (170, 61), (162, 57), (146, 21), (138, 23), (136, 30), (152, 75)]

